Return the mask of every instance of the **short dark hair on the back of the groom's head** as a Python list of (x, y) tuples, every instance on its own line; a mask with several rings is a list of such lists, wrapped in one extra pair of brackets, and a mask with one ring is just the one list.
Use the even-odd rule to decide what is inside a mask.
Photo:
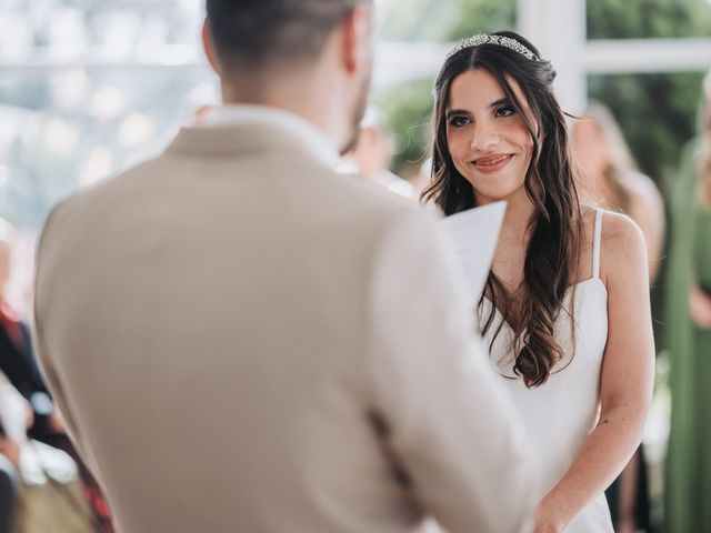
[(207, 0), (222, 67), (261, 70), (314, 59), (336, 26), (372, 0)]

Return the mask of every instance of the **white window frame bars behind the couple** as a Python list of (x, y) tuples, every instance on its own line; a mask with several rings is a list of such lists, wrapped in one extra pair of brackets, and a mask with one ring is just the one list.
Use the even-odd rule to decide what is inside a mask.
[[(555, 89), (562, 105), (580, 112), (588, 100), (587, 76), (611, 73), (704, 71), (711, 67), (711, 39), (587, 40), (585, 0), (517, 0), (518, 30), (550, 59), (558, 73)], [(375, 87), (432, 77), (452, 44), (382, 42), (378, 44)], [(172, 69), (193, 72), (208, 67), (191, 47), (166, 47), (153, 58), (113, 62), (32, 59), (2, 61), (0, 71)]]

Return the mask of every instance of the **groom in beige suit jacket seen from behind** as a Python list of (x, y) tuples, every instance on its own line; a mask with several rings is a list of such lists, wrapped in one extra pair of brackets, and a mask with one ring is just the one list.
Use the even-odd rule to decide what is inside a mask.
[(59, 204), (36, 333), (119, 531), (525, 523), (531, 464), (429, 214), (338, 175), (365, 0), (208, 0), (224, 107)]

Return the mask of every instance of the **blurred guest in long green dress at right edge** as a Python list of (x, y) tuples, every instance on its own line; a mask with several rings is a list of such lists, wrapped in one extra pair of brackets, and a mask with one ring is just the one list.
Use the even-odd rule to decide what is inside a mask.
[(671, 429), (665, 522), (670, 533), (711, 531), (711, 72), (701, 133), (682, 152), (672, 193), (667, 286)]

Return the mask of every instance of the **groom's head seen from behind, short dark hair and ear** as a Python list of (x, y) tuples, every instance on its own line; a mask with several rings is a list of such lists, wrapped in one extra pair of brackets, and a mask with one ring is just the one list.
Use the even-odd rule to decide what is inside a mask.
[(233, 100), (260, 103), (284, 92), (274, 88), (298, 92), (318, 79), (317, 90), (339, 92), (356, 132), (372, 70), (372, 0), (207, 0), (207, 8), (208, 58)]

